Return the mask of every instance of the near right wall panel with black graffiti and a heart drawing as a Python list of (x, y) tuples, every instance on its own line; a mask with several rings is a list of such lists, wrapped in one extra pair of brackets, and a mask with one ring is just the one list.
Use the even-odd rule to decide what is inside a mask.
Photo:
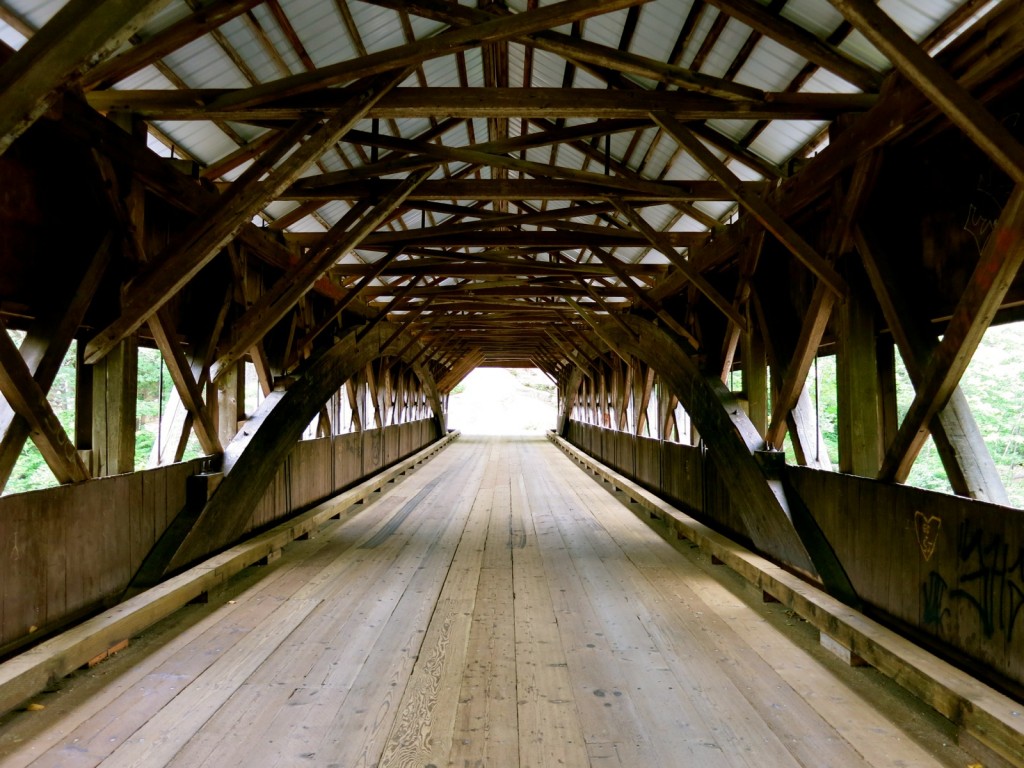
[(787, 471), (873, 612), (1024, 692), (1024, 511)]

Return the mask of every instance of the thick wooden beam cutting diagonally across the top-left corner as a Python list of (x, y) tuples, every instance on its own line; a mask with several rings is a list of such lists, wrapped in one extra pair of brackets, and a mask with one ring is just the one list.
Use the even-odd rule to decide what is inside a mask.
[(70, 0), (0, 67), (0, 154), (168, 0)]

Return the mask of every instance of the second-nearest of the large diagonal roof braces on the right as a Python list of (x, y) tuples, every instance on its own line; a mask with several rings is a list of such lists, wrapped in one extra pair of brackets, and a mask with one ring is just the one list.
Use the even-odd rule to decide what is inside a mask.
[(734, 196), (736, 202), (750, 211), (804, 266), (814, 272), (839, 297), (842, 298), (846, 294), (846, 285), (831, 264), (825, 261), (763, 198), (752, 195), (740, 187), (736, 175), (700, 143), (700, 139), (669, 115), (657, 113), (652, 117), (670, 136), (686, 148), (690, 157), (703, 166), (708, 173), (715, 176)]

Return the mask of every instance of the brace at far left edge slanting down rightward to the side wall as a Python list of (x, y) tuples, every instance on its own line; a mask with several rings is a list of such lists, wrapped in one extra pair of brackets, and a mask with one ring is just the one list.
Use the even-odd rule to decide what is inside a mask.
[(57, 482), (89, 479), (89, 470), (68, 437), (25, 359), (0, 321), (0, 394), (29, 425), (29, 434)]

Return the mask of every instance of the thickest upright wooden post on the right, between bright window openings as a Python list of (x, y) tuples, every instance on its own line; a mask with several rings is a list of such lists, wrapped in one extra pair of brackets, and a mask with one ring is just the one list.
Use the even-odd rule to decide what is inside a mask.
[(874, 312), (866, 279), (855, 264), (847, 270), (850, 294), (839, 305), (836, 359), (839, 388), (839, 470), (874, 477), (882, 465), (880, 393)]

